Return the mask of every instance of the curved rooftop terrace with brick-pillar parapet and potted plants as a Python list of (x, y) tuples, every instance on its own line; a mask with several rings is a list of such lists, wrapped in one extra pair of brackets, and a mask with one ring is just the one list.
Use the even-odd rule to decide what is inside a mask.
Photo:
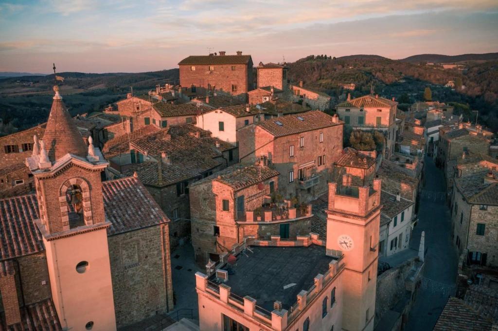
[(288, 207), (287, 203), (278, 203), (275, 206), (259, 207), (253, 211), (237, 211), (238, 222), (272, 222), (293, 220), (311, 216), (311, 205), (302, 204), (298, 207)]

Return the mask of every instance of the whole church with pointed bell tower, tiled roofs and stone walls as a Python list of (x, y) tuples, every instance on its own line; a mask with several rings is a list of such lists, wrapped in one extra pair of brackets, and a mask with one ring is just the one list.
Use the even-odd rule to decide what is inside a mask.
[(135, 177), (102, 181), (108, 163), (54, 90), (26, 160), (36, 191), (0, 200), (2, 328), (116, 330), (167, 312), (168, 218)]

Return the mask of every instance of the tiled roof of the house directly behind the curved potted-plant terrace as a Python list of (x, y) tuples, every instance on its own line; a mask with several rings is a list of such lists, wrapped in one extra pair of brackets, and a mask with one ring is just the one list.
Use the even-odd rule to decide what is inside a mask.
[(192, 186), (216, 180), (235, 189), (241, 189), (278, 175), (279, 172), (277, 170), (273, 170), (267, 166), (238, 164), (229, 166), (209, 177), (196, 181)]

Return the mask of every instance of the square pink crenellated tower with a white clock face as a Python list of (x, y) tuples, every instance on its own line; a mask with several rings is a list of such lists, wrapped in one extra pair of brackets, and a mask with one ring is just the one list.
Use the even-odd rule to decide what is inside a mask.
[(380, 179), (369, 186), (329, 183), (327, 253), (342, 253), (346, 265), (343, 330), (373, 330), (380, 209)]

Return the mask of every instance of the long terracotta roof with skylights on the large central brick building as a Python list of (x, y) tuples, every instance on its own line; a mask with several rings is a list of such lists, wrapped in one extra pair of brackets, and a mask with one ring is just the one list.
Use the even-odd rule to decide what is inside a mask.
[(298, 115), (268, 119), (259, 122), (257, 126), (268, 131), (275, 137), (283, 137), (342, 124), (343, 122), (333, 123), (332, 116), (320, 110), (313, 110)]

